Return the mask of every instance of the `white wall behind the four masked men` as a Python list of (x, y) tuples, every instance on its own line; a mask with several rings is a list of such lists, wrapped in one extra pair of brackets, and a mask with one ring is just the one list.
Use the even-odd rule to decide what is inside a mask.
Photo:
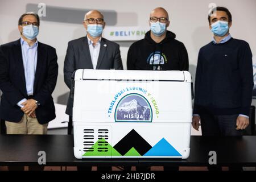
[[(117, 23), (115, 26), (148, 26), (150, 11), (155, 7), (162, 6), (170, 14), (171, 26), (168, 29), (175, 32), (177, 39), (183, 42), (187, 47), (190, 62), (189, 70), (194, 79), (197, 53), (199, 52), (200, 47), (209, 43), (212, 39), (212, 34), (208, 28), (207, 15), (209, 11), (208, 5), (213, 2), (218, 6), (228, 7), (233, 15), (233, 26), (230, 31), (232, 36), (249, 42), (253, 55), (256, 55), (255, 0), (0, 0), (0, 44), (11, 42), (19, 38), (19, 16), (27, 11), (26, 7), (28, 3), (37, 5), (40, 2), (46, 3), (47, 6), (56, 6), (63, 9), (98, 9), (115, 11), (117, 12)], [(69, 14), (69, 17), (72, 17), (72, 14)], [(55, 102), (58, 103), (61, 102), (61, 98), (59, 97), (68, 92), (68, 88), (65, 86), (63, 78), (63, 63), (67, 43), (69, 40), (80, 38), (85, 35), (85, 30), (82, 27), (83, 18), (84, 17), (80, 17), (81, 24), (50, 22), (46, 20), (42, 20), (41, 22), (40, 34), (38, 36), (39, 41), (55, 47), (59, 57), (59, 77), (56, 89), (53, 93), (53, 98)], [(127, 51), (132, 42), (118, 43), (121, 45), (121, 56), (123, 65), (126, 68)]]

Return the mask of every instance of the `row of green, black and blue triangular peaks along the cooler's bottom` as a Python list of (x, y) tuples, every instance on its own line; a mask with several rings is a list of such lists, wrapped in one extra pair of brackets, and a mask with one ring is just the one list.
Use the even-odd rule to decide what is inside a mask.
[(108, 140), (98, 139), (83, 156), (182, 156), (165, 138), (151, 146), (134, 129), (114, 146)]

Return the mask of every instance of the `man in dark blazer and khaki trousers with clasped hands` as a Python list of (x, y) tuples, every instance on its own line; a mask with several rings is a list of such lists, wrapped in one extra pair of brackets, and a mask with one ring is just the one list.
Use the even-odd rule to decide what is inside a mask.
[(1, 119), (7, 134), (47, 134), (54, 119), (51, 96), (58, 65), (55, 48), (38, 42), (39, 16), (26, 13), (19, 18), (21, 38), (0, 46)]

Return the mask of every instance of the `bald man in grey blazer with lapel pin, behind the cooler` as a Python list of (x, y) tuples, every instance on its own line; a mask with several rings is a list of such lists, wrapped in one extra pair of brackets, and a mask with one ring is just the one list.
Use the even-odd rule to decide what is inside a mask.
[[(72, 87), (72, 75), (77, 69), (123, 69), (119, 45), (102, 38), (105, 22), (100, 11), (86, 13), (83, 24), (87, 35), (68, 43), (64, 81), (69, 89)], [(69, 96), (66, 113), (70, 118), (72, 108), (73, 99)], [(72, 127), (71, 122), (69, 127)]]

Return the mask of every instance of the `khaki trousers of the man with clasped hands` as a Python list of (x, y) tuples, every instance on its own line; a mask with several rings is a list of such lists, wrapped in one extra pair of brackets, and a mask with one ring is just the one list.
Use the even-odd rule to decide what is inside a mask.
[(28, 135), (43, 135), (47, 134), (48, 123), (41, 125), (38, 119), (28, 117), (24, 114), (20, 122), (5, 122), (7, 134), (28, 134)]

